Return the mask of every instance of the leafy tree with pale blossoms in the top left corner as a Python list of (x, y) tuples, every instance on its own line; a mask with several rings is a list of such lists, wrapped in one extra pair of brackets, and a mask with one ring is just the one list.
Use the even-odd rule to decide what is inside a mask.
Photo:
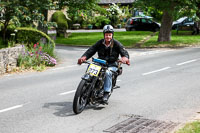
[(44, 11), (55, 7), (52, 0), (1, 0), (0, 22), (3, 24), (3, 40), (6, 39), (6, 31), (10, 22), (21, 26), (44, 22)]

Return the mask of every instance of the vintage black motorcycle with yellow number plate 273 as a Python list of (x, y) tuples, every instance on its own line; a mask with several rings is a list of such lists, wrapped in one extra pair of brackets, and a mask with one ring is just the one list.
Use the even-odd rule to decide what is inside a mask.
[[(98, 106), (106, 104), (102, 99), (104, 95), (104, 79), (108, 69), (107, 62), (102, 59), (92, 58), (92, 62), (86, 61), (84, 63), (87, 63), (88, 67), (74, 96), (73, 111), (75, 114), (81, 113), (87, 105)], [(113, 89), (119, 88), (119, 86), (116, 86), (116, 81), (117, 77), (122, 74), (122, 67), (121, 63), (118, 64), (118, 70), (116, 72), (112, 71), (111, 93)]]

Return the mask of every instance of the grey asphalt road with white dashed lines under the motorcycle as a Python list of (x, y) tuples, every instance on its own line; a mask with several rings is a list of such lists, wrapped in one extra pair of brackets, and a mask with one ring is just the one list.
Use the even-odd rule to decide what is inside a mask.
[(86, 48), (56, 47), (59, 65), (44, 72), (0, 77), (0, 133), (99, 133), (134, 115), (183, 123), (200, 110), (200, 48), (128, 49), (109, 105), (74, 115), (74, 92)]

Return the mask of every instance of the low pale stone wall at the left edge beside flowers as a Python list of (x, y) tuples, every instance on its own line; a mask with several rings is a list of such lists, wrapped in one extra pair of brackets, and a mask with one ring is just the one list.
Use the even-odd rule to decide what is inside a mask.
[(0, 75), (16, 68), (18, 56), (24, 52), (25, 48), (22, 45), (0, 49)]

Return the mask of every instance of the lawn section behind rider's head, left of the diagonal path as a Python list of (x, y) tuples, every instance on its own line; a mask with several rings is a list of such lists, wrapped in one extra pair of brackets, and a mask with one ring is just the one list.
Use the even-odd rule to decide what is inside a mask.
[[(129, 31), (129, 32), (115, 32), (114, 38), (120, 41), (124, 46), (133, 46), (142, 40), (144, 37), (152, 34), (152, 32), (144, 31)], [(69, 38), (57, 37), (56, 44), (64, 45), (81, 45), (90, 46), (95, 44), (98, 40), (103, 38), (103, 33), (72, 33)]]

